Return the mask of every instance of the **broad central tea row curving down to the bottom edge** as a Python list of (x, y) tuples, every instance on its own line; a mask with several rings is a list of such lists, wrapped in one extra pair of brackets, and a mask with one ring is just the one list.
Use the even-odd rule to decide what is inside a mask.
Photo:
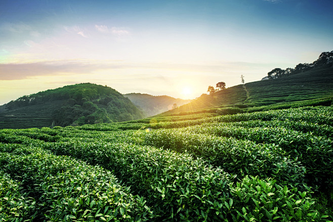
[(230, 176), (189, 154), (74, 140), (50, 143), (45, 149), (114, 170), (133, 191), (146, 197), (160, 220), (221, 220), (227, 216), (227, 209), (221, 203), (228, 200)]

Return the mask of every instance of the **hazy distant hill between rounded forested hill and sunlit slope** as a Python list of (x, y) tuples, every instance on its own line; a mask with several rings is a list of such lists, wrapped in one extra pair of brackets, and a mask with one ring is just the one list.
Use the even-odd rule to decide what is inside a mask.
[(192, 100), (176, 99), (169, 96), (152, 96), (141, 93), (124, 94), (131, 102), (144, 111), (145, 117), (154, 116), (159, 113), (171, 110), (174, 104), (182, 106)]

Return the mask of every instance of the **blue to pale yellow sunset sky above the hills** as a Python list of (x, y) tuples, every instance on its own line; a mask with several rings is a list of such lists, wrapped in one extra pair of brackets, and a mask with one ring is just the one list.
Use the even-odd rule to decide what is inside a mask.
[(1, 0), (0, 105), (91, 82), (194, 99), (333, 50), (331, 0)]

